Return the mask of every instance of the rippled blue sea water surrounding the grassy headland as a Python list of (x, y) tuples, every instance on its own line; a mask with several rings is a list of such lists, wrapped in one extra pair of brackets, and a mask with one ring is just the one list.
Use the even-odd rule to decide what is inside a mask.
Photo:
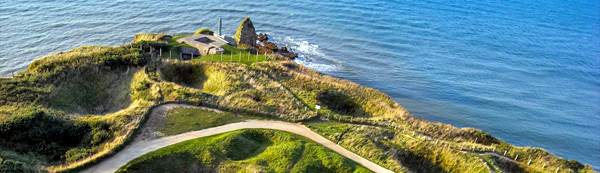
[(233, 34), (250, 16), (302, 63), (413, 114), (600, 168), (600, 1), (0, 0), (0, 76), (135, 33)]

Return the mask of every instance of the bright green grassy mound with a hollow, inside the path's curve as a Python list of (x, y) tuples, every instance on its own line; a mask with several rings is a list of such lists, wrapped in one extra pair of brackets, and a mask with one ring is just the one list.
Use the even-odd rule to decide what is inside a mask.
[(132, 160), (117, 172), (369, 172), (304, 137), (238, 130), (181, 142)]

